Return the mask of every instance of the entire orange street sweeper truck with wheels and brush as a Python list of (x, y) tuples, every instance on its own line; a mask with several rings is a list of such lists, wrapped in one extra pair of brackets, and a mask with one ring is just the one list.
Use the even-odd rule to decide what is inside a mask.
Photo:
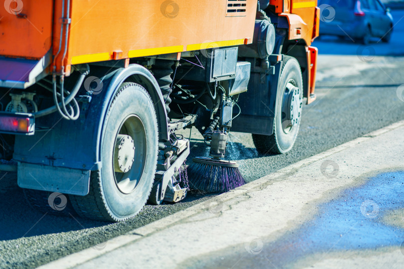
[[(319, 16), (316, 0), (4, 0), (0, 170), (38, 210), (105, 221), (242, 185), (228, 134), (291, 150)], [(209, 154), (187, 171), (192, 127)]]

